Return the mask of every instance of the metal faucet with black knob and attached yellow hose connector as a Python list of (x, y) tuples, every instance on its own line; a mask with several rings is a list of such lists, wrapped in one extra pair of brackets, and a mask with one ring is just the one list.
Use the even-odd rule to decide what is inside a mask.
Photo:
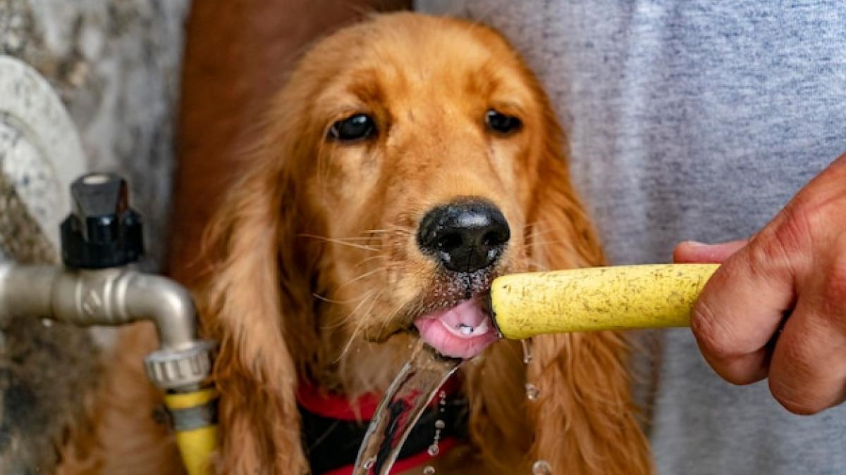
[(144, 253), (144, 244), (126, 182), (113, 174), (88, 174), (71, 185), (71, 197), (73, 210), (61, 226), (64, 267), (0, 263), (0, 321), (36, 317), (87, 326), (151, 320), (161, 347), (145, 358), (146, 374), (168, 391), (166, 405), (186, 468), (205, 473), (208, 454), (195, 448), (186, 454), (180, 435), (199, 430), (207, 449), (201, 451), (213, 450), (217, 393), (209, 379), (217, 344), (200, 338), (194, 302), (184, 287), (127, 267)]

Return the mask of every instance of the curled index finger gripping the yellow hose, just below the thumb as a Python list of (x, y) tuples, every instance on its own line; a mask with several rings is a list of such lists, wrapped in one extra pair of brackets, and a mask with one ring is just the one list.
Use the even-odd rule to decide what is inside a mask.
[(767, 372), (767, 344), (794, 303), (786, 259), (753, 240), (725, 260), (700, 294), (691, 329), (723, 379), (749, 384)]

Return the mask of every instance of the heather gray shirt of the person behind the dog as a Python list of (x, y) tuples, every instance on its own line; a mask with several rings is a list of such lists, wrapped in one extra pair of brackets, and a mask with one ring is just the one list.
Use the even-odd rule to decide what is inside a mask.
[[(846, 152), (846, 1), (418, 0), (502, 30), (547, 86), (615, 264), (746, 238)], [(844, 183), (846, 186), (846, 183)], [(661, 475), (846, 473), (846, 405), (719, 379), (689, 330), (652, 335)], [(643, 355), (642, 355), (643, 356)]]

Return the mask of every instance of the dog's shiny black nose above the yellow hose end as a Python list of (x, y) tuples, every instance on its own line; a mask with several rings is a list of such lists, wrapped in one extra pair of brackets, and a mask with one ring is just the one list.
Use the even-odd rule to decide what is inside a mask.
[(511, 232), (496, 206), (464, 199), (426, 213), (417, 231), (417, 243), (444, 267), (472, 272), (493, 265), (503, 254)]

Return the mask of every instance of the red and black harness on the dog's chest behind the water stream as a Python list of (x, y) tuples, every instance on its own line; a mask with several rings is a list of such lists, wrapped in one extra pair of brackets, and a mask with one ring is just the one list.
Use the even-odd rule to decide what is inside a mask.
[[(391, 473), (426, 465), (431, 461), (427, 449), (435, 439), (435, 422), (442, 420), (438, 440), (439, 455), (453, 448), (467, 434), (467, 400), (459, 393), (459, 383), (451, 379), (443, 386), (446, 398), (438, 397), (411, 429)], [(364, 440), (368, 423), (376, 412), (381, 396), (366, 394), (357, 401), (327, 394), (315, 386), (300, 385), (297, 390), (302, 418), (303, 445), (315, 475), (349, 475)]]

